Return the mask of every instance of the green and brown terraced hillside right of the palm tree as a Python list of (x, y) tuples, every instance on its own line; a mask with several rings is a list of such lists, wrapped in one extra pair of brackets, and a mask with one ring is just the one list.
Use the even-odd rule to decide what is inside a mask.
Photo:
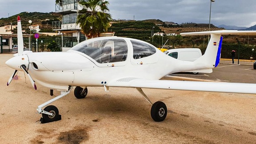
[[(154, 27), (154, 28), (153, 28)], [(112, 23), (108, 29), (109, 32), (115, 32), (115, 36), (133, 37), (137, 39), (148, 39), (152, 35), (152, 30), (156, 32), (176, 33), (181, 32), (200, 32), (208, 30), (208, 24), (185, 23), (175, 24), (173, 22), (163, 22), (161, 20), (119, 20)], [(214, 25), (211, 25), (211, 30), (221, 30)], [(142, 38), (143, 37), (143, 38)]]

